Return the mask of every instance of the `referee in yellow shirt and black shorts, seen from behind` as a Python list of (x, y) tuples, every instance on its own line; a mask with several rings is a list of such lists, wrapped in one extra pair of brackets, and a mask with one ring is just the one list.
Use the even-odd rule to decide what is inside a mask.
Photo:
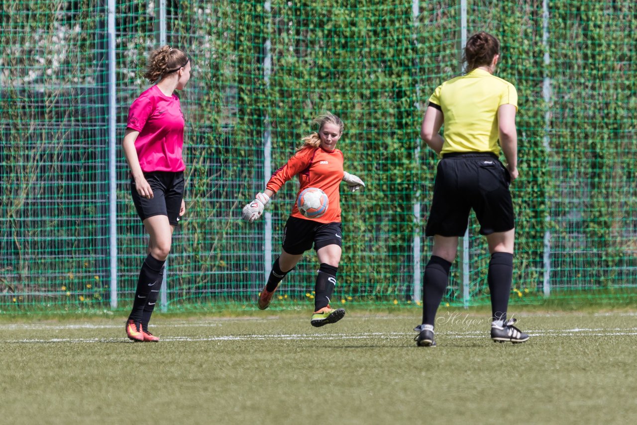
[[(434, 320), (473, 208), (480, 234), (487, 237), (491, 339), (525, 342), (526, 333), (506, 321), (513, 277), (515, 214), (509, 185), (518, 176), (515, 87), (493, 73), (500, 43), (486, 32), (469, 38), (464, 49), (467, 73), (442, 83), (429, 97), (420, 137), (442, 156), (438, 162), (426, 235), (434, 237), (425, 268), (422, 324), (415, 341), (433, 347)], [(445, 137), (438, 133), (445, 124)], [(498, 145), (499, 140), (499, 145)], [(499, 161), (502, 148), (507, 165)]]

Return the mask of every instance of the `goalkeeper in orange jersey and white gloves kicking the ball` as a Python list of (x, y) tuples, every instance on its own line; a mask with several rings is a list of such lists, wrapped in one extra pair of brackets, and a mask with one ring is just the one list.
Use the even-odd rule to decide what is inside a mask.
[(318, 133), (311, 133), (303, 138), (303, 146), (284, 166), (275, 171), (266, 189), (257, 193), (254, 201), (243, 208), (243, 219), (248, 222), (259, 219), (271, 196), (294, 176), (298, 177), (301, 184), (297, 198), (308, 187), (317, 187), (327, 194), (328, 208), (317, 218), (305, 217), (299, 211), (297, 203), (294, 203), (292, 214), (283, 229), (283, 250), (272, 265), (268, 282), (259, 294), (259, 308), (265, 310), (281, 280), (313, 244), (320, 267), (315, 286), (314, 313), (310, 323), (318, 327), (338, 322), (345, 316), (345, 309), (333, 309), (329, 305), (336, 286), (343, 241), (339, 187), (341, 181), (344, 181), (355, 192), (365, 184), (357, 176), (343, 171), (343, 152), (336, 149), (336, 143), (343, 135), (343, 121), (332, 113), (326, 113), (313, 122), (318, 125)]

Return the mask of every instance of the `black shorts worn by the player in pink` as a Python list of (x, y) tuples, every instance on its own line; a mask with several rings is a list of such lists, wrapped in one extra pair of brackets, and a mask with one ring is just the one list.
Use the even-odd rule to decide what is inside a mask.
[(168, 222), (177, 226), (183, 199), (183, 171), (152, 171), (144, 173), (146, 181), (153, 191), (153, 198), (142, 198), (137, 193), (135, 180), (131, 178), (131, 195), (140, 219), (143, 221), (154, 215), (168, 216)]

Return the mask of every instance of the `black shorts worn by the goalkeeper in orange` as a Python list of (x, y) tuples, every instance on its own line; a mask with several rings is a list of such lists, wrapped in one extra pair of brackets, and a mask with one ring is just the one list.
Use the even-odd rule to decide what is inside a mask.
[(343, 246), (343, 230), (339, 222), (319, 223), (314, 220), (291, 217), (283, 229), (283, 250), (300, 255), (312, 247), (319, 250), (327, 245)]

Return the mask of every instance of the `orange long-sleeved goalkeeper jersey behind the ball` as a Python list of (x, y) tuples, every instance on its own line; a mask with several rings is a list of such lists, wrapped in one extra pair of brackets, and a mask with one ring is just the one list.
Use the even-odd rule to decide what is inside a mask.
[[(301, 187), (296, 194), (292, 217), (320, 223), (341, 221), (339, 187), (343, 180), (343, 152), (338, 149), (329, 151), (323, 148), (303, 147), (287, 161), (287, 164), (275, 171), (266, 188), (278, 192), (285, 182), (294, 176), (299, 177)], [(318, 219), (304, 217), (296, 205), (299, 193), (306, 187), (318, 187), (327, 194), (329, 199), (326, 213)]]

